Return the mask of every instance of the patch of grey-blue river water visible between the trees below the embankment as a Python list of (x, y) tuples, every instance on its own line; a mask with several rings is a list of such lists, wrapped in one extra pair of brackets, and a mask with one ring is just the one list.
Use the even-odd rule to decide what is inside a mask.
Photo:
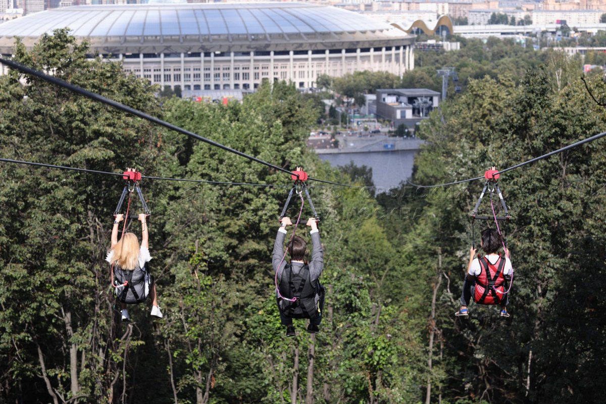
[[(413, 173), (413, 164), (418, 150), (371, 151), (363, 153), (319, 154), (322, 160), (330, 162), (333, 167), (347, 165), (351, 161), (361, 167), (373, 169), (375, 187), (387, 190), (398, 187)], [(381, 190), (377, 190), (381, 193)]]

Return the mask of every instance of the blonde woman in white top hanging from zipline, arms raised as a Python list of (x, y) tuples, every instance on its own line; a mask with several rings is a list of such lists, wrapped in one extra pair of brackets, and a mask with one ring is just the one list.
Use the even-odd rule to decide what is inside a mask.
[(113, 286), (116, 288), (116, 297), (121, 303), (122, 321), (130, 321), (126, 305), (141, 303), (147, 296), (151, 298), (150, 315), (161, 319), (162, 311), (158, 307), (156, 283), (146, 268), (151, 256), (145, 214), (139, 214), (141, 247), (139, 247), (139, 239), (133, 233), (125, 233), (118, 241), (118, 228), (122, 220), (124, 220), (122, 214), (116, 215), (112, 229), (112, 248), (105, 258), (112, 265)]

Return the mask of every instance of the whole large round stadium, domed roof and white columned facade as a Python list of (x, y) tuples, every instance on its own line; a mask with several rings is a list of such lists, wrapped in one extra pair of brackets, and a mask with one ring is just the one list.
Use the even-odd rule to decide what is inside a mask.
[(0, 53), (10, 55), (15, 36), (31, 47), (64, 27), (93, 55), (181, 90), (252, 90), (264, 80), (313, 88), (322, 74), (414, 68), (414, 36), (355, 12), (282, 2), (56, 8), (0, 24)]

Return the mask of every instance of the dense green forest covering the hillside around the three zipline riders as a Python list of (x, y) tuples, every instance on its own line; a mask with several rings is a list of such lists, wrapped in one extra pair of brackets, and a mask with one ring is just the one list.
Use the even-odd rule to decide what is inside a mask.
[[(309, 184), (325, 250), (324, 320), (318, 334), (298, 320), (290, 339), (279, 321), (271, 248), (288, 174), (10, 71), (0, 77), (0, 157), (272, 186), (143, 179), (164, 318), (142, 303), (121, 323), (104, 259), (124, 180), (0, 163), (0, 402), (602, 400), (604, 141), (502, 174), (511, 317), (472, 304), (460, 319), (481, 181), (403, 183), (375, 197), (364, 170), (332, 168), (307, 149), (318, 108), (287, 83), (227, 105), (161, 99), (118, 63), (86, 55), (86, 44), (56, 31), (32, 50), (18, 43), (14, 59), (279, 167), (355, 186)], [(412, 182), (481, 176), (604, 131), (580, 60), (537, 55), (462, 75), (464, 91), (421, 125)], [(606, 99), (599, 75), (588, 84)]]

